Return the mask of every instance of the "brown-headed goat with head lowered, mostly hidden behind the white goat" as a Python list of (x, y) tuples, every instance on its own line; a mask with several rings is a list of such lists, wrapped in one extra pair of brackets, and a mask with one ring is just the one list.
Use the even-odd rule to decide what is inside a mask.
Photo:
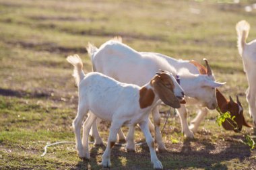
[[(191, 60), (191, 63), (197, 67), (200, 74), (205, 75), (207, 74), (207, 69), (203, 67), (199, 62), (196, 62), (195, 60)], [(236, 95), (236, 102), (232, 99), (232, 97), (229, 97), (229, 101), (224, 97), (224, 95), (220, 92), (219, 89), (216, 89), (216, 97), (218, 102), (218, 107), (220, 108), (220, 111), (222, 113), (230, 112), (231, 117), (235, 116), (234, 122), (232, 120), (225, 120), (222, 123), (222, 127), (225, 130), (234, 130), (234, 132), (241, 131), (243, 126), (247, 126), (251, 128), (251, 124), (248, 124), (245, 120), (245, 117), (243, 115), (243, 106), (241, 102), (238, 99), (238, 95)], [(205, 110), (204, 112), (199, 112), (197, 117), (191, 122), (190, 129), (193, 130), (193, 132), (196, 132), (197, 128), (199, 127), (200, 122), (203, 120), (203, 118), (207, 114), (207, 110), (205, 108), (201, 108), (201, 110)], [(229, 122), (232, 124), (230, 124)], [(236, 127), (237, 129), (234, 129)]]

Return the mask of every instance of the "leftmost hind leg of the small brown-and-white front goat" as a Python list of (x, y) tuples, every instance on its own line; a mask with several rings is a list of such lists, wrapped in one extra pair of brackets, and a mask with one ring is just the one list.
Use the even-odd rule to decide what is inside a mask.
[(86, 151), (84, 151), (84, 147), (81, 140), (81, 128), (82, 128), (82, 122), (87, 112), (88, 112), (88, 107), (85, 104), (80, 103), (77, 108), (77, 115), (73, 120), (73, 128), (75, 131), (75, 144), (76, 144), (78, 156), (81, 159), (84, 159), (86, 157)]

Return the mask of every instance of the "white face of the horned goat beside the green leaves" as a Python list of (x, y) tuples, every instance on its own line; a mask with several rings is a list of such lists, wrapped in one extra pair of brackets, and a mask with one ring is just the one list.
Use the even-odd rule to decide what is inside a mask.
[(215, 81), (214, 76), (199, 75), (200, 83), (196, 91), (196, 99), (199, 100), (202, 106), (210, 110), (216, 109), (218, 103), (216, 99), (216, 87), (220, 87), (225, 83), (218, 83)]

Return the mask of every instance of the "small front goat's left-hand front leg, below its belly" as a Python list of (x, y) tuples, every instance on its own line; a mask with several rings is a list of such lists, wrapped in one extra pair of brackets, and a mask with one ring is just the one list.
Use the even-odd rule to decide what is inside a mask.
[(119, 132), (119, 129), (121, 128), (123, 122), (120, 120), (113, 121), (110, 126), (110, 132), (108, 136), (108, 144), (106, 145), (106, 150), (104, 151), (104, 154), (102, 155), (102, 162), (101, 165), (103, 167), (110, 167), (110, 153), (111, 149), (115, 145), (115, 142), (117, 140), (117, 133)]

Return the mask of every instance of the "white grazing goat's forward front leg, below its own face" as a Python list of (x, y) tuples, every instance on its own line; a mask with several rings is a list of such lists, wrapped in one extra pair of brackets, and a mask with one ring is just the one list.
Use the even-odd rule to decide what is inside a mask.
[(179, 117), (181, 119), (182, 132), (187, 136), (187, 138), (193, 138), (194, 134), (189, 130), (189, 124), (187, 123), (187, 109), (184, 104), (181, 105), (181, 108), (177, 109)]

